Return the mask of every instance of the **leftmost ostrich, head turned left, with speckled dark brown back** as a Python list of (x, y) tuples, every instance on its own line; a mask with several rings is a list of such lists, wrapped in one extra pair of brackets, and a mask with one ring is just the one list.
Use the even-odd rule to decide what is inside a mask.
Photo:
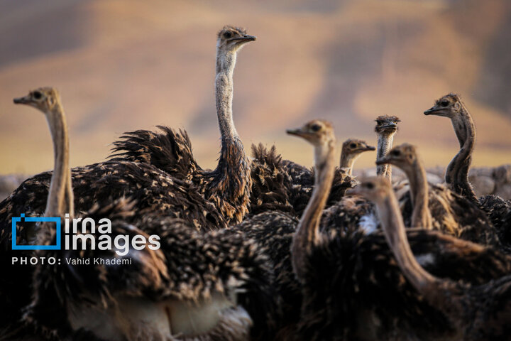
[[(75, 168), (72, 171), (75, 187), (75, 200), (72, 200), (71, 175), (67, 156), (67, 126), (60, 104), (60, 97), (52, 88), (41, 88), (16, 99), (18, 103), (30, 104), (45, 112), (52, 129), (55, 144), (55, 170), (41, 173), (26, 180), (15, 192), (0, 203), (0, 262), (2, 269), (9, 269), (11, 276), (0, 282), (2, 324), (16, 325), (21, 308), (28, 303), (31, 285), (31, 266), (11, 264), (13, 256), (30, 256), (30, 251), (11, 249), (11, 218), (22, 213), (27, 217), (62, 215), (62, 212), (76, 210), (87, 212), (98, 203), (103, 205), (122, 197), (131, 196), (136, 200), (136, 214), (128, 217), (128, 222), (136, 222), (151, 212), (163, 217), (180, 217), (197, 229), (218, 229), (226, 226), (214, 205), (194, 189), (194, 185), (172, 179), (162, 171), (146, 163), (130, 161), (107, 161), (90, 166)], [(50, 120), (51, 119), (51, 120)], [(53, 175), (59, 179), (52, 183)], [(48, 194), (48, 187), (61, 188), (64, 192)], [(52, 191), (50, 191), (51, 194)], [(63, 195), (63, 196), (62, 196)], [(67, 198), (63, 200), (63, 198)], [(65, 205), (67, 203), (68, 205)], [(50, 205), (51, 204), (51, 205)], [(17, 244), (31, 244), (36, 234), (33, 226), (17, 224)], [(0, 327), (1, 328), (1, 327)], [(11, 328), (10, 326), (8, 328)], [(16, 328), (16, 327), (14, 327)]]

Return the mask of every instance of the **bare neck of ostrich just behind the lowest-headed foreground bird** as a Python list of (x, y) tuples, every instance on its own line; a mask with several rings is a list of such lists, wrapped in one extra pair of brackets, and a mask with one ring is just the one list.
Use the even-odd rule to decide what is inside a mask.
[(426, 171), (422, 161), (416, 158), (414, 163), (403, 169), (410, 182), (410, 194), (412, 197), (412, 227), (432, 229), (432, 215), (429, 211), (429, 193)]

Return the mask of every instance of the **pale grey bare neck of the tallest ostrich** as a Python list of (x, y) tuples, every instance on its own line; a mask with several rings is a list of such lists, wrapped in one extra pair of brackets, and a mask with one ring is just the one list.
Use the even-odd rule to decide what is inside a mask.
[(222, 139), (238, 138), (232, 114), (234, 65), (236, 65), (236, 52), (217, 49), (215, 99)]

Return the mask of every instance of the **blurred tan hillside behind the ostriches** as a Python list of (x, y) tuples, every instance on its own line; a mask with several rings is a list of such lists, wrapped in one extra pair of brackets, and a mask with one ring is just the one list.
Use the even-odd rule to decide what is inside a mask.
[(258, 36), (234, 76), (246, 146), (275, 142), (285, 158), (311, 164), (285, 128), (322, 117), (339, 140), (374, 142), (373, 119), (395, 114), (395, 142), (445, 165), (457, 150), (451, 124), (422, 112), (458, 92), (478, 128), (474, 165), (511, 162), (511, 1), (0, 0), (0, 173), (53, 166), (43, 115), (12, 104), (41, 85), (62, 94), (72, 166), (103, 160), (123, 131), (157, 124), (185, 127), (202, 166), (214, 165), (224, 23)]

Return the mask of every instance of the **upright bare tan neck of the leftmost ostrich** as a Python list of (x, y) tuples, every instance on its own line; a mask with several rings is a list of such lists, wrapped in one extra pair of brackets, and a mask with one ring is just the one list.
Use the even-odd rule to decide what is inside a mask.
[(54, 169), (46, 204), (46, 217), (62, 217), (65, 213), (74, 215), (71, 171), (69, 163), (69, 138), (67, 122), (60, 103), (46, 115), (53, 139)]

